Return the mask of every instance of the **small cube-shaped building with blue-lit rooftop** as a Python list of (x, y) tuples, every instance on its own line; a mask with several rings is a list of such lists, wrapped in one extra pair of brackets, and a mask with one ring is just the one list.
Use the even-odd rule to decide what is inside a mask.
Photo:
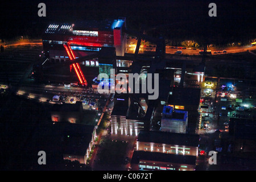
[(161, 120), (162, 131), (172, 133), (186, 133), (188, 127), (188, 111), (174, 110), (171, 106), (164, 106)]

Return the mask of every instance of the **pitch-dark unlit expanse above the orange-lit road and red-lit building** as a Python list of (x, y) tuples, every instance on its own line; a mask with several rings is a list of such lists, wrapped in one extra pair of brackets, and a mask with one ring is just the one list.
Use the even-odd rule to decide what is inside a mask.
[[(46, 17), (38, 16), (38, 4), (46, 4)], [(208, 5), (217, 5), (217, 17), (208, 16)], [(129, 28), (141, 24), (154, 27), (179, 22), (166, 29), (176, 36), (229, 36), (246, 39), (255, 35), (254, 1), (209, 0), (34, 0), (5, 1), (0, 6), (1, 33), (4, 38), (17, 35), (39, 36), (49, 22), (75, 22), (76, 19), (116, 19), (126, 16)]]

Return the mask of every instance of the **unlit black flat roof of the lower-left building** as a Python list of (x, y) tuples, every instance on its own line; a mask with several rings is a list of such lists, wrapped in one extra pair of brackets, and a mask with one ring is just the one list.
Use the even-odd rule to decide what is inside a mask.
[(30, 142), (31, 150), (44, 150), (54, 156), (84, 155), (92, 139), (94, 126), (68, 122), (42, 123), (35, 129)]

